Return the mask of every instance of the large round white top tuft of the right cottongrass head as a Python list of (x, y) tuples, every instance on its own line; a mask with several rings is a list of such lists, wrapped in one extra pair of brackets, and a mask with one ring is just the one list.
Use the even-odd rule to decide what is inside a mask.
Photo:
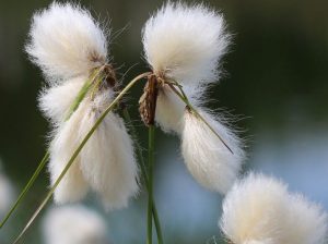
[(145, 59), (157, 75), (179, 83), (212, 83), (230, 35), (223, 16), (202, 4), (166, 3), (143, 28)]

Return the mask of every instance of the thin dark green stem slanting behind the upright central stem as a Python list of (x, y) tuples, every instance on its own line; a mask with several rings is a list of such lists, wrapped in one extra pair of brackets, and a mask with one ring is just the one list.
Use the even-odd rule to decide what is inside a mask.
[[(124, 118), (128, 122), (128, 126), (130, 129), (134, 145), (137, 147), (137, 154), (138, 154), (138, 158), (140, 161), (141, 173), (143, 176), (144, 184), (147, 185), (147, 191), (149, 192), (149, 179), (148, 179), (147, 168), (145, 168), (145, 163), (143, 160), (142, 148), (138, 142), (138, 135), (137, 135), (136, 127), (132, 124), (132, 120), (131, 120), (131, 117), (130, 117), (127, 108), (122, 109), (122, 113), (124, 113)], [(160, 218), (159, 218), (159, 213), (157, 213), (157, 209), (156, 209), (156, 204), (155, 204), (154, 199), (152, 199), (152, 202), (153, 202), (152, 212), (153, 212), (153, 220), (154, 220), (154, 224), (155, 224), (156, 233), (157, 233), (157, 241), (159, 241), (159, 244), (163, 244), (164, 243), (163, 234), (162, 234), (161, 222), (160, 222)]]

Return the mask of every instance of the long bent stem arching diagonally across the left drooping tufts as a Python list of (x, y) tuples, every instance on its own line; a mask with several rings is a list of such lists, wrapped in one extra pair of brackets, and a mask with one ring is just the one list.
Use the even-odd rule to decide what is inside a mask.
[(99, 124), (103, 122), (103, 120), (105, 119), (105, 117), (107, 115), (108, 112), (110, 112), (114, 107), (119, 102), (119, 100), (122, 98), (122, 96), (129, 91), (129, 89), (141, 78), (148, 76), (150, 73), (143, 73), (138, 75), (137, 77), (134, 77), (119, 94), (118, 96), (112, 101), (112, 103), (105, 109), (105, 111), (101, 114), (101, 117), (97, 119), (97, 121), (94, 123), (94, 125), (92, 126), (92, 129), (87, 132), (87, 134), (85, 135), (85, 137), (83, 138), (82, 143), (79, 145), (79, 147), (75, 149), (75, 151), (73, 152), (72, 157), (70, 158), (70, 160), (68, 161), (68, 163), (66, 164), (65, 169), (62, 170), (62, 172), (60, 173), (60, 175), (58, 176), (58, 179), (56, 180), (55, 184), (51, 186), (51, 188), (49, 190), (48, 194), (46, 195), (45, 199), (42, 202), (42, 204), (39, 205), (39, 207), (36, 209), (36, 211), (33, 213), (33, 216), (31, 217), (31, 219), (28, 220), (28, 222), (26, 223), (25, 228), (22, 230), (22, 232), (19, 234), (19, 236), (15, 239), (15, 241), (13, 242), (13, 244), (19, 243), (19, 241), (22, 239), (22, 236), (26, 233), (26, 231), (28, 230), (28, 228), (32, 225), (32, 223), (34, 222), (34, 220), (36, 219), (36, 217), (39, 215), (39, 212), (44, 209), (44, 207), (47, 205), (47, 203), (50, 200), (55, 190), (57, 188), (57, 186), (59, 185), (59, 183), (61, 182), (62, 178), (65, 176), (65, 174), (67, 173), (67, 171), (69, 170), (69, 168), (71, 167), (71, 164), (74, 162), (75, 158), (78, 157), (78, 155), (80, 154), (80, 151), (82, 150), (82, 148), (84, 147), (84, 145), (86, 144), (86, 142), (89, 141), (89, 138), (92, 136), (92, 134), (95, 132), (95, 130), (99, 126)]

